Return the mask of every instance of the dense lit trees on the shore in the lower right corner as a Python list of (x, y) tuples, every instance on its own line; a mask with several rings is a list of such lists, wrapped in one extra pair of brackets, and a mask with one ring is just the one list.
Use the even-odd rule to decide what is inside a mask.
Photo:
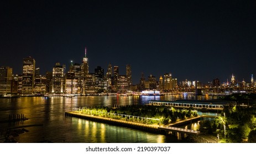
[(218, 135), (220, 142), (256, 142), (255, 94), (228, 95), (222, 100), (237, 102), (233, 108), (224, 108), (222, 116), (213, 121), (201, 122), (201, 129), (208, 134)]

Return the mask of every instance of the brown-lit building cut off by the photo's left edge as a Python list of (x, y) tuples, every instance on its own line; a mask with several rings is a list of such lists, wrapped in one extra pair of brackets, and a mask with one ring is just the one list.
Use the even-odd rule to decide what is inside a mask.
[(0, 67), (0, 95), (11, 94), (12, 68)]

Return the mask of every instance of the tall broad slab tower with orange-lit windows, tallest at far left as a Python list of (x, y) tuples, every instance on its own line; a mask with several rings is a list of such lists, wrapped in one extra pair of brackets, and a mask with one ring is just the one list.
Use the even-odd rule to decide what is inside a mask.
[(32, 57), (23, 59), (22, 94), (33, 94), (35, 82), (35, 59)]

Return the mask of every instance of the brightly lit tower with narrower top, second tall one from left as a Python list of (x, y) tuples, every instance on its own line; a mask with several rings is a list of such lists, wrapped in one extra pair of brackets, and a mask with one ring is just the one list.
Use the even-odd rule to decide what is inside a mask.
[(53, 94), (64, 93), (64, 68), (60, 63), (56, 63), (53, 68), (53, 78), (52, 78), (52, 90)]

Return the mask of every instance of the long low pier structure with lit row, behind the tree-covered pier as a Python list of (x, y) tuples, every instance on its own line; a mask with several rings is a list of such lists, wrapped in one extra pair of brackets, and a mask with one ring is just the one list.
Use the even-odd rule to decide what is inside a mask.
[(200, 101), (200, 100), (176, 100), (176, 101), (149, 101), (148, 105), (169, 106), (178, 108), (214, 109), (223, 110), (225, 106), (233, 107), (234, 101)]

